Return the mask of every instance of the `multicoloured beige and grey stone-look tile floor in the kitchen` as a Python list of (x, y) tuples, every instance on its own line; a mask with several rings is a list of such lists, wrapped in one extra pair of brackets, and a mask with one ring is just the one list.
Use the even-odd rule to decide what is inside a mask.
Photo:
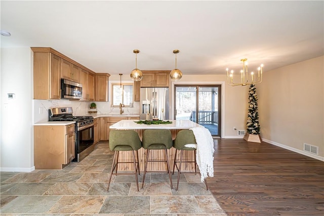
[[(168, 174), (147, 173), (140, 192), (133, 174), (113, 175), (107, 193), (112, 157), (108, 143), (100, 142), (84, 160), (62, 170), (1, 172), (0, 214), (226, 215), (195, 174), (182, 175), (175, 191), (170, 188)], [(141, 173), (139, 182), (142, 177)], [(174, 185), (176, 181), (177, 173)]]

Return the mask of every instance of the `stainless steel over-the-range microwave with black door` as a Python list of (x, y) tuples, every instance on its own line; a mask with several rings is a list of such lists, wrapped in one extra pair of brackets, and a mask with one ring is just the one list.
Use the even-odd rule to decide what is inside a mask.
[(61, 79), (62, 99), (82, 99), (82, 84)]

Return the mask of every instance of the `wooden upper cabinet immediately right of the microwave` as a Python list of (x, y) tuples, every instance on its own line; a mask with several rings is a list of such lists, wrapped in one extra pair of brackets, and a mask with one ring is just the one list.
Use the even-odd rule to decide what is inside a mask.
[(94, 101), (94, 75), (87, 70), (80, 70), (80, 84), (82, 84), (82, 100)]

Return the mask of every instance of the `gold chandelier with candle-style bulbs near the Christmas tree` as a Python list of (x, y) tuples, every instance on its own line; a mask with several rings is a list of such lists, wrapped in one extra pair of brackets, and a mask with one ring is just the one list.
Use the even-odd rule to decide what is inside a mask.
[(260, 65), (260, 67), (258, 67), (258, 80), (256, 80), (255, 78), (255, 74), (252, 71), (251, 72), (251, 81), (249, 81), (249, 75), (248, 75), (248, 59), (241, 59), (241, 61), (243, 62), (243, 69), (240, 70), (241, 73), (241, 82), (240, 83), (234, 83), (233, 82), (233, 75), (234, 75), (234, 71), (231, 70), (230, 71), (230, 75), (228, 76), (228, 68), (226, 68), (226, 72), (227, 72), (227, 84), (230, 86), (246, 86), (246, 85), (250, 85), (250, 84), (257, 84), (257, 83), (261, 83), (262, 82), (262, 70), (263, 70), (263, 64)]

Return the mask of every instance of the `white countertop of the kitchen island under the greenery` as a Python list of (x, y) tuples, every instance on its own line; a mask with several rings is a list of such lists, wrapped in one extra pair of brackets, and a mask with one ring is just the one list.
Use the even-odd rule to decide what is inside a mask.
[[(146, 124), (137, 124), (139, 120), (121, 120), (109, 128), (111, 129), (190, 129), (193, 127), (203, 127), (195, 122), (190, 120), (169, 120), (172, 124), (158, 124), (158, 125), (146, 125)], [(167, 120), (166, 120), (167, 121)]]

